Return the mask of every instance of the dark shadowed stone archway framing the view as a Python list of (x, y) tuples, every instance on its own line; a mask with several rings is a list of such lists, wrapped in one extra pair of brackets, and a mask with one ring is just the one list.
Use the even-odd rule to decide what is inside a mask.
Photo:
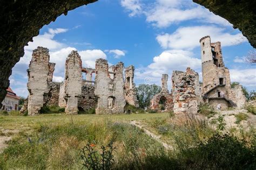
[[(24, 55), (24, 46), (39, 30), (55, 21), (62, 13), (97, 0), (44, 0), (0, 2), (0, 108), (9, 87), (11, 69)], [(256, 47), (256, 1), (254, 0), (193, 0), (215, 14), (226, 18)], [(239, 11), (239, 12), (238, 12)]]

